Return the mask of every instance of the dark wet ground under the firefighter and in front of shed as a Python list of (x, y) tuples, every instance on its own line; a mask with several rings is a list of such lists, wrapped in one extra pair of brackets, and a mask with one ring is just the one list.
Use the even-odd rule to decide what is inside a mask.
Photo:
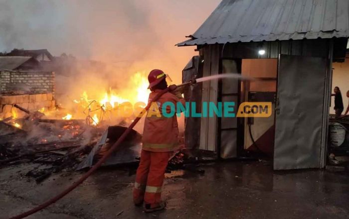
[[(165, 211), (133, 206), (135, 176), (128, 169), (99, 170), (76, 190), (28, 219), (348, 219), (349, 176), (322, 170), (274, 172), (266, 162), (201, 165), (204, 175), (167, 174)], [(60, 173), (41, 184), (21, 177), (27, 164), (0, 169), (0, 219), (58, 194), (81, 173)]]

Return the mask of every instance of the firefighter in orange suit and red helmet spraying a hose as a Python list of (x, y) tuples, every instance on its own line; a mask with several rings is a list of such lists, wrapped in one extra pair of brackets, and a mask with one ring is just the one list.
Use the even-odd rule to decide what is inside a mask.
[[(159, 92), (167, 89), (166, 74), (155, 69), (150, 72), (148, 80), (149, 89), (152, 91), (148, 102), (152, 102)], [(184, 106), (184, 99), (178, 90), (179, 88), (176, 89), (175, 85), (171, 85), (171, 92), (165, 93), (155, 102), (161, 116), (153, 113), (152, 116), (148, 116), (152, 110), (151, 107), (145, 118), (143, 148), (136, 174), (133, 200), (136, 206), (141, 206), (144, 201), (147, 213), (163, 210), (166, 207), (166, 202), (161, 200), (161, 187), (171, 152), (178, 144), (178, 123), (175, 114), (173, 117), (163, 116), (162, 106), (165, 102), (172, 102), (174, 106), (177, 102), (181, 102)], [(167, 112), (170, 112), (170, 108)]]

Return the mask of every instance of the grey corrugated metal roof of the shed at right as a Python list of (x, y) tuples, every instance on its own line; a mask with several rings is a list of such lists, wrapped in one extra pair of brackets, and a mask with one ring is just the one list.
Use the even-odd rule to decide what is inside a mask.
[(222, 0), (178, 46), (349, 37), (349, 0)]

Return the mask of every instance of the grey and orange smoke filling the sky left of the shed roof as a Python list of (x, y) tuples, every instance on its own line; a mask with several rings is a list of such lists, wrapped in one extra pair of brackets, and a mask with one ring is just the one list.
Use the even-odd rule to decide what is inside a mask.
[[(180, 82), (194, 47), (175, 43), (193, 33), (220, 0), (1, 0), (0, 51), (47, 48), (79, 59), (160, 68)], [(126, 69), (125, 69), (126, 68)]]

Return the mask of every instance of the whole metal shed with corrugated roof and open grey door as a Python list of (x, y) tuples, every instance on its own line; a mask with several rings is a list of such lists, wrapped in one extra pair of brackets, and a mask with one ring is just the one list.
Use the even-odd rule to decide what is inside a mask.
[[(201, 101), (271, 100), (275, 84), (273, 126), (259, 133), (261, 144), (273, 137), (274, 169), (322, 168), (332, 62), (345, 57), (348, 31), (349, 0), (222, 0), (190, 39), (177, 45), (197, 46), (203, 76), (244, 74), (246, 63), (264, 66), (264, 73), (255, 68), (255, 77), (268, 81), (263, 85), (268, 92), (251, 93), (246, 88), (252, 85), (237, 80), (209, 81), (202, 84)], [(275, 76), (265, 77), (273, 66)], [(222, 158), (239, 156), (251, 141), (249, 122), (201, 118), (199, 148)]]

